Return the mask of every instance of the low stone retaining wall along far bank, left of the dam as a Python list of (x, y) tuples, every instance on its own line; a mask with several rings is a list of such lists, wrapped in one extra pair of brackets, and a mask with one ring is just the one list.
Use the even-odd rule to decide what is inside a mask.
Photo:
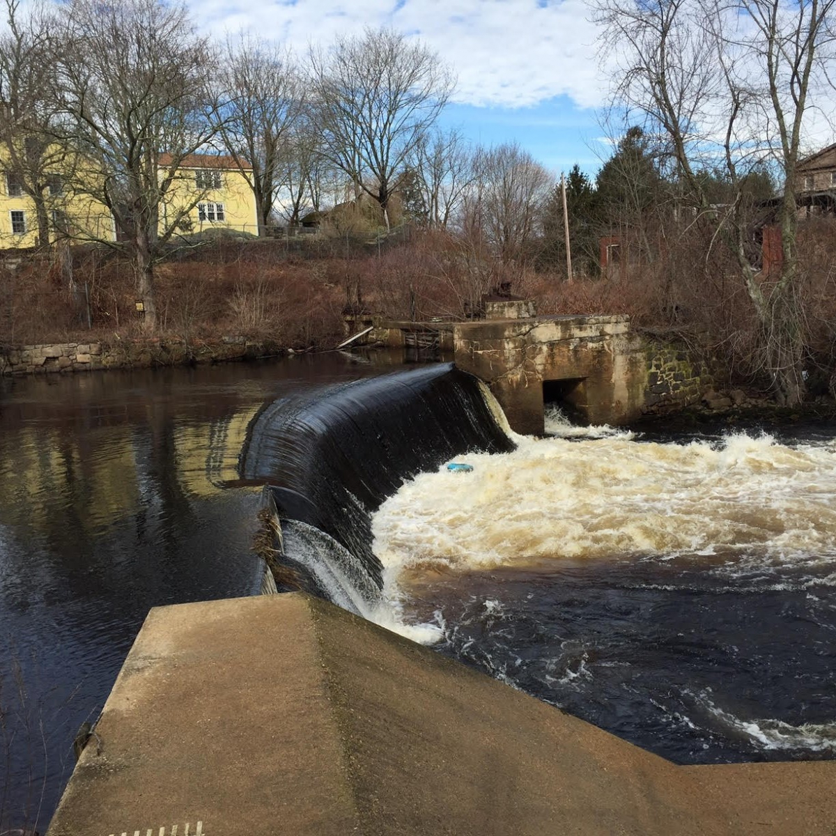
[(117, 343), (56, 343), (0, 348), (0, 375), (33, 375), (47, 372), (94, 369), (147, 368), (157, 365), (220, 363), (276, 354), (281, 349), (268, 342), (247, 342), (226, 337), (212, 343), (185, 340), (120, 340)]

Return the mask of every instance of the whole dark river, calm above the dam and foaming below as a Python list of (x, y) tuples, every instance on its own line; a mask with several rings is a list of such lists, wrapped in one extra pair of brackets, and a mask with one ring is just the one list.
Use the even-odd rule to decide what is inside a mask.
[(349, 609), (676, 762), (833, 757), (836, 427), (509, 438), (393, 368), (0, 381), (0, 826), (43, 832), (150, 607), (257, 590), (264, 482)]

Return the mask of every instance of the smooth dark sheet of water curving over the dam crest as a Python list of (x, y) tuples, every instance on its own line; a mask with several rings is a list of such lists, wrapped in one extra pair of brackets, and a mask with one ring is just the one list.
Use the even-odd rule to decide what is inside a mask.
[(514, 450), (500, 421), (479, 380), (452, 364), (333, 385), (265, 406), (247, 435), (241, 476), (268, 486), (283, 521), (302, 523), (283, 523), (288, 558), (299, 563), (293, 543), (309, 555), (322, 533), (337, 548), (322, 538), (319, 548), (342, 552), (332, 557), (344, 565), (353, 556), (380, 589), (371, 514), (453, 456)]

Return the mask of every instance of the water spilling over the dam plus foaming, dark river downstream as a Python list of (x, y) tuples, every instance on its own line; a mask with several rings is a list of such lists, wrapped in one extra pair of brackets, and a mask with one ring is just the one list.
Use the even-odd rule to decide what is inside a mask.
[(833, 428), (546, 423), (430, 367), (268, 405), (242, 477), (346, 609), (675, 762), (836, 755)]

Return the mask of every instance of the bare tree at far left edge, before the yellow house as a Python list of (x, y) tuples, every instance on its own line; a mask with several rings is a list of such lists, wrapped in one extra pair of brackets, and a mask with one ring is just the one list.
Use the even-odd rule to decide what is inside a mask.
[(9, 195), (32, 201), (38, 246), (48, 247), (51, 213), (64, 205), (64, 179), (72, 164), (72, 155), (53, 135), (58, 45), (44, 8), (22, 11), (19, 0), (6, 0), (5, 5), (8, 29), (0, 35), (2, 170)]

